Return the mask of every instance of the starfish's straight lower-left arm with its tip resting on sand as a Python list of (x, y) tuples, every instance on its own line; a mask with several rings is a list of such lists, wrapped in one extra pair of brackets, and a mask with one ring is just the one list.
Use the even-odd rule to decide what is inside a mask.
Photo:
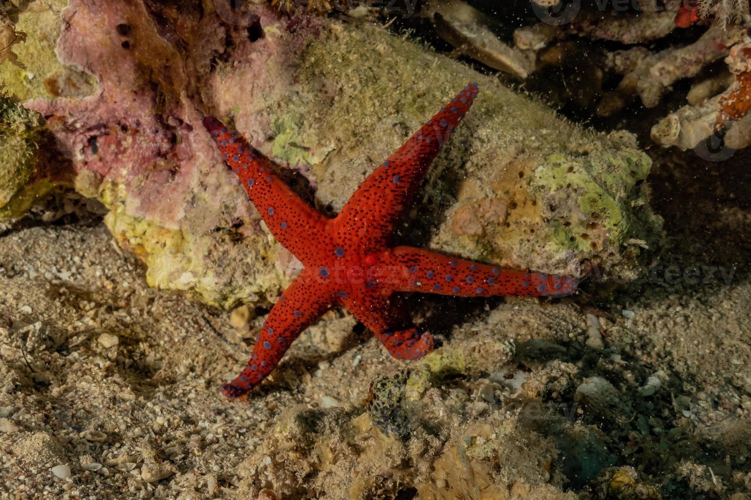
[(222, 386), (227, 397), (240, 397), (261, 383), (273, 370), (291, 343), (335, 303), (333, 289), (306, 271), (279, 297), (261, 327), (253, 354), (245, 369)]

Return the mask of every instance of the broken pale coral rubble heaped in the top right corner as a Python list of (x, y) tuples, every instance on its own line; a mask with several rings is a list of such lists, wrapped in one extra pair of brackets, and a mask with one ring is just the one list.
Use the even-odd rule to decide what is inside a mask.
[[(751, 41), (748, 4), (724, 0), (698, 4), (667, 2), (657, 9), (656, 4), (642, 1), (621, 12), (590, 8), (560, 27), (540, 22), (517, 29), (514, 40), (517, 48), (538, 54), (543, 67), (578, 64), (578, 47), (590, 57), (595, 55), (599, 62), (590, 65), (594, 83), (579, 104), (593, 106), (599, 116), (617, 115), (634, 99), (646, 108), (661, 109), (668, 94), (674, 103), (683, 101), (683, 107), (674, 112), (668, 107), (667, 116), (653, 124), (651, 138), (659, 145), (695, 149), (707, 141), (722, 141), (732, 150), (746, 148), (751, 145), (746, 118), (751, 89), (744, 48)], [(697, 11), (690, 22), (683, 22), (686, 8)], [(682, 32), (689, 28), (689, 33)], [(598, 41), (621, 47), (611, 43), (605, 49), (593, 44)], [(717, 64), (723, 60), (724, 68)], [(685, 85), (676, 88), (687, 80), (688, 90), (683, 90)], [(615, 88), (608, 88), (614, 81)]]

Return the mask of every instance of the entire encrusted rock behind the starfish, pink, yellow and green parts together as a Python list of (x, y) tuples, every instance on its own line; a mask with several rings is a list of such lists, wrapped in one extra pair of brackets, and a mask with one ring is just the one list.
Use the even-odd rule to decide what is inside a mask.
[(623, 277), (659, 243), (642, 184), (650, 160), (634, 139), (576, 127), (382, 28), (222, 1), (216, 12), (179, 13), (140, 2), (72, 0), (62, 11), (56, 0), (35, 3), (59, 18), (35, 24), (37, 12), (20, 12), (16, 29), (25, 27), (33, 51), (29, 60), (14, 51), (26, 67), (41, 64), (35, 74), (47, 84), (10, 61), (0, 81), (47, 118), (76, 189), (110, 210), (107, 226), (146, 262), (152, 286), (223, 307), (258, 304), (300, 269), (222, 167), (204, 113), (234, 122), (288, 167), (282, 175), (299, 193), (336, 211), (472, 79), (484, 97), (434, 164), (409, 238), (508, 267), (581, 276), (599, 265)]

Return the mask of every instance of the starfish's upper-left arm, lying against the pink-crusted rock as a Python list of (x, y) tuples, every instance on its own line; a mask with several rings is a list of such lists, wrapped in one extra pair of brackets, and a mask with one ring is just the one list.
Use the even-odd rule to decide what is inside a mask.
[(222, 157), (237, 174), (271, 234), (305, 262), (312, 250), (310, 238), (321, 234), (327, 219), (315, 211), (274, 173), (270, 160), (240, 135), (216, 120), (204, 118)]

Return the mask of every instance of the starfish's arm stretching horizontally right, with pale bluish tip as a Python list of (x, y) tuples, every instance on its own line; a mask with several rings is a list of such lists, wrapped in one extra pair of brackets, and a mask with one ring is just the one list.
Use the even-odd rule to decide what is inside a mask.
[(395, 292), (564, 297), (575, 292), (578, 283), (573, 277), (514, 271), (413, 247), (394, 247), (385, 253), (381, 265), (397, 270), (391, 272), (388, 284)]

